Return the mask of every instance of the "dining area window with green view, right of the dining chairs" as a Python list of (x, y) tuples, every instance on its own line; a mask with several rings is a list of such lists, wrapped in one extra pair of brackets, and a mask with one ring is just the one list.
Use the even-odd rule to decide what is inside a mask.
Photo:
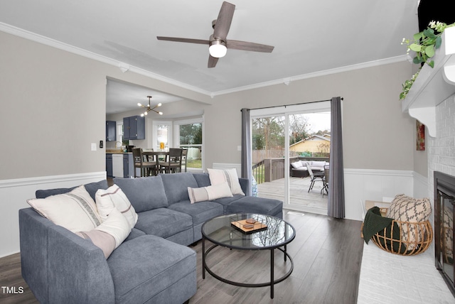
[(175, 121), (176, 141), (179, 148), (188, 149), (187, 170), (203, 169), (203, 119)]

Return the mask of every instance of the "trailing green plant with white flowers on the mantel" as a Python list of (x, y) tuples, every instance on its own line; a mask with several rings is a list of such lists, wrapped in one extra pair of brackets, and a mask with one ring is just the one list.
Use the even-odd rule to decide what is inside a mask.
[[(401, 44), (407, 45), (407, 55), (410, 54), (411, 50), (413, 50), (416, 54), (412, 62), (417, 65), (421, 65), (419, 71), (423, 66), (422, 63), (426, 63), (430, 67), (434, 67), (434, 60), (432, 60), (432, 57), (434, 56), (435, 50), (441, 46), (442, 33), (446, 28), (450, 28), (452, 26), (455, 26), (455, 23), (447, 25), (444, 22), (432, 21), (424, 31), (414, 34), (412, 40), (403, 38)], [(400, 93), (400, 100), (405, 99), (407, 92), (410, 91), (412, 85), (414, 84), (414, 80), (416, 80), (419, 75), (419, 71), (412, 75), (410, 80), (406, 80), (402, 84), (403, 92)]]

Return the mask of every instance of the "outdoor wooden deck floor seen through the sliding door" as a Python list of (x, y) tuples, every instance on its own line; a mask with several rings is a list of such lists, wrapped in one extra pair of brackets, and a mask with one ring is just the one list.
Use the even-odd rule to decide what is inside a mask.
[[(322, 182), (317, 180), (313, 189), (308, 192), (310, 178), (290, 178), (289, 179), (289, 199), (291, 206), (287, 209), (313, 212), (321, 215), (327, 215), (328, 196), (321, 195)], [(259, 197), (274, 198), (284, 201), (284, 178), (272, 182), (261, 183), (257, 185)]]

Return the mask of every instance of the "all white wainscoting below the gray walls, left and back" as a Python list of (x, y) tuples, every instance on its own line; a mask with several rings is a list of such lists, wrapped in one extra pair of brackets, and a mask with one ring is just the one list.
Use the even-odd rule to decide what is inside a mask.
[[(213, 163), (217, 169), (237, 169), (239, 163)], [(19, 251), (18, 210), (28, 207), (27, 199), (38, 189), (69, 188), (106, 178), (105, 172), (44, 176), (15, 180), (0, 180), (0, 257)], [(414, 197), (428, 196), (427, 178), (406, 170), (345, 169), (346, 219), (362, 220), (361, 202), (382, 200), (405, 193)], [(423, 192), (423, 193), (422, 193)], [(432, 199), (432, 197), (430, 197)]]

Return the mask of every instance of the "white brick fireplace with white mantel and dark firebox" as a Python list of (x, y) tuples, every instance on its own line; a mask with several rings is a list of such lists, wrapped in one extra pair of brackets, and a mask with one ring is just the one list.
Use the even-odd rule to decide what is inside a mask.
[[(448, 246), (439, 248), (442, 241), (443, 244), (450, 245), (450, 250), (453, 251), (453, 230), (451, 238), (447, 229), (447, 238), (441, 234), (444, 234), (444, 219), (448, 222), (447, 215), (451, 213), (451, 218), (454, 217), (454, 207), (449, 197), (455, 197), (455, 28), (446, 28), (442, 41), (434, 55), (434, 68), (427, 65), (422, 67), (410, 94), (402, 102), (402, 109), (427, 126), (428, 197), (432, 201), (435, 215), (432, 249), (435, 264), (455, 295), (453, 256), (448, 258)], [(436, 176), (438, 178), (434, 178)], [(440, 185), (436, 185), (435, 180), (445, 180), (444, 187), (439, 189)], [(442, 192), (439, 190), (444, 190), (446, 197), (441, 198), (444, 195), (438, 194)], [(438, 224), (443, 227), (437, 227)], [(445, 258), (441, 257), (444, 254)]]

